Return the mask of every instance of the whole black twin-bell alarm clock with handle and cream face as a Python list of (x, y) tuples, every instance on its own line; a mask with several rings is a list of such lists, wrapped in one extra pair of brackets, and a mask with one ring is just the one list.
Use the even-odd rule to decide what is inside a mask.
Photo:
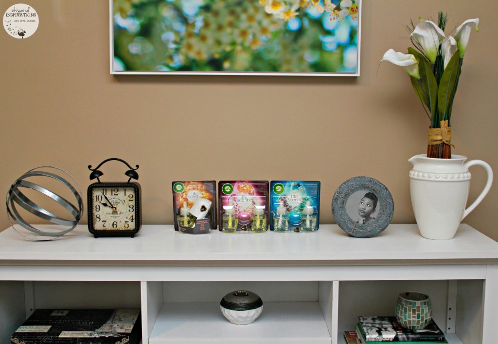
[[(101, 182), (99, 177), (104, 173), (98, 169), (108, 161), (117, 160), (125, 164), (129, 170), (124, 174), (128, 180), (124, 182)], [(99, 236), (134, 237), (142, 225), (140, 184), (131, 179), (138, 179), (138, 165), (133, 169), (124, 160), (111, 158), (104, 160), (92, 171), (90, 180), (97, 182), (88, 186), (88, 230), (96, 238)]]

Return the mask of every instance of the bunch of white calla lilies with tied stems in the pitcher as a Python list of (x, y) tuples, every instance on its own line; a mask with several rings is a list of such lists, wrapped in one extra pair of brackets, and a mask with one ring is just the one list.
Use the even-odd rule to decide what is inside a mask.
[[(466, 20), (456, 28), (453, 37), (445, 37), (444, 34), (447, 14), (438, 13), (438, 25), (432, 21), (422, 21), (421, 18), (420, 20), (416, 27), (413, 21), (410, 22), (411, 25), (406, 26), (408, 31), (412, 31), (410, 39), (414, 45), (408, 47), (408, 54), (389, 49), (381, 61), (392, 62), (406, 70), (410, 75), (413, 90), (431, 122), (429, 136), (432, 131), (440, 132), (443, 136), (450, 128), (453, 101), (462, 73), (463, 56), (470, 31), (474, 27), (478, 30), (479, 19)], [(427, 157), (451, 159), (452, 147), (450, 140), (430, 142), (427, 145)]]

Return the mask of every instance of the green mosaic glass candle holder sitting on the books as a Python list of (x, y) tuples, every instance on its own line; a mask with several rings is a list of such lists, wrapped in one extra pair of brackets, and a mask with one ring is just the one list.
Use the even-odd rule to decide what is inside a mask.
[(429, 296), (422, 293), (407, 292), (398, 295), (396, 320), (409, 330), (421, 330), (432, 319), (432, 305)]

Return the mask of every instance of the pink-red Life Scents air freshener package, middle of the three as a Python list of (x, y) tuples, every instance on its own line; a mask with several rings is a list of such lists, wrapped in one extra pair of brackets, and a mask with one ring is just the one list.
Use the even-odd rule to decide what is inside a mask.
[(262, 233), (268, 229), (268, 181), (219, 181), (219, 230)]

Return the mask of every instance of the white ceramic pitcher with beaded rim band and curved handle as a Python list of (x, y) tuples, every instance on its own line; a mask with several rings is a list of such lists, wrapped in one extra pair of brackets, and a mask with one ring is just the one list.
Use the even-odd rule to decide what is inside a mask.
[[(452, 155), (451, 159), (412, 157), (410, 194), (420, 234), (424, 238), (448, 240), (455, 236), (460, 222), (481, 203), (493, 183), (493, 171), (482, 160), (465, 161), (467, 157)], [(468, 208), (467, 198), (471, 174), (469, 167), (480, 165), (488, 172), (483, 191)]]

